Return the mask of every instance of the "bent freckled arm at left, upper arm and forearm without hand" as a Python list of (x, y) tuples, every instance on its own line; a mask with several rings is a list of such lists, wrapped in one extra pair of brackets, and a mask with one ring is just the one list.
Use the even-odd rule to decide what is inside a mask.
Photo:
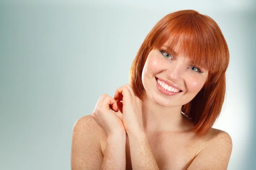
[[(72, 170), (125, 169), (125, 139), (119, 135), (109, 136), (104, 156), (99, 135), (101, 127), (91, 115), (80, 118), (73, 127), (71, 144)], [(121, 140), (124, 140), (122, 142)]]

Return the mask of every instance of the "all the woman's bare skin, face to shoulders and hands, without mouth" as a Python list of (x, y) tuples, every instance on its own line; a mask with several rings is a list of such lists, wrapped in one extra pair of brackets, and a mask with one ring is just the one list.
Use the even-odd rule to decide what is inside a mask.
[[(212, 128), (199, 138), (192, 132), (192, 122), (180, 113), (182, 105), (203, 87), (208, 71), (201, 68), (203, 73), (198, 73), (182, 54), (168, 56), (157, 49), (148, 54), (142, 76), (144, 101), (126, 84), (113, 98), (102, 95), (92, 115), (76, 122), (73, 170), (227, 169), (232, 151), (229, 134)], [(155, 77), (169, 80), (182, 92), (175, 96), (160, 93)]]

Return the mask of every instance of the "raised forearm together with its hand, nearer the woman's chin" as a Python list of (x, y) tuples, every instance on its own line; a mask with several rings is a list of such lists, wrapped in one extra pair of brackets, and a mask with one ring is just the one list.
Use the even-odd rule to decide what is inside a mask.
[(129, 84), (117, 88), (113, 98), (122, 113), (122, 122), (129, 138), (133, 170), (159, 170), (144, 132), (142, 101), (134, 95)]

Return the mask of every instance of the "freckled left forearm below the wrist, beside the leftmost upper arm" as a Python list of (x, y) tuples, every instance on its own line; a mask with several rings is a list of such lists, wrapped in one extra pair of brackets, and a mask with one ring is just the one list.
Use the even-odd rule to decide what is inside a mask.
[(125, 170), (126, 133), (108, 136), (101, 170)]

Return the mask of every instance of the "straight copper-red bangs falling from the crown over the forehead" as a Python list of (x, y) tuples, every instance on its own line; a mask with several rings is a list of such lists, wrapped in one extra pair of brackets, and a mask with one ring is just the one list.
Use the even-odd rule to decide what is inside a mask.
[(215, 28), (209, 20), (215, 22), (201, 14), (164, 17), (160, 25), (156, 26), (157, 31), (151, 35), (148, 45), (151, 49), (160, 49), (167, 44), (167, 52), (189, 57), (191, 63), (199, 68), (211, 73), (224, 72), (229, 56), (227, 43), (220, 28)]

